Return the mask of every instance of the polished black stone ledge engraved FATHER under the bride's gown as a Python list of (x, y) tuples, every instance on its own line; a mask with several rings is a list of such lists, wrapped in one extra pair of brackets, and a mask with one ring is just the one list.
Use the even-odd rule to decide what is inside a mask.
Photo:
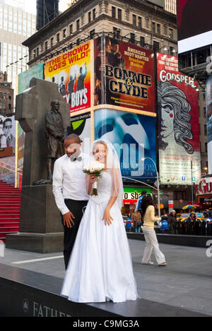
[(144, 300), (126, 303), (73, 303), (59, 295), (62, 279), (0, 264), (1, 317), (207, 317)]

